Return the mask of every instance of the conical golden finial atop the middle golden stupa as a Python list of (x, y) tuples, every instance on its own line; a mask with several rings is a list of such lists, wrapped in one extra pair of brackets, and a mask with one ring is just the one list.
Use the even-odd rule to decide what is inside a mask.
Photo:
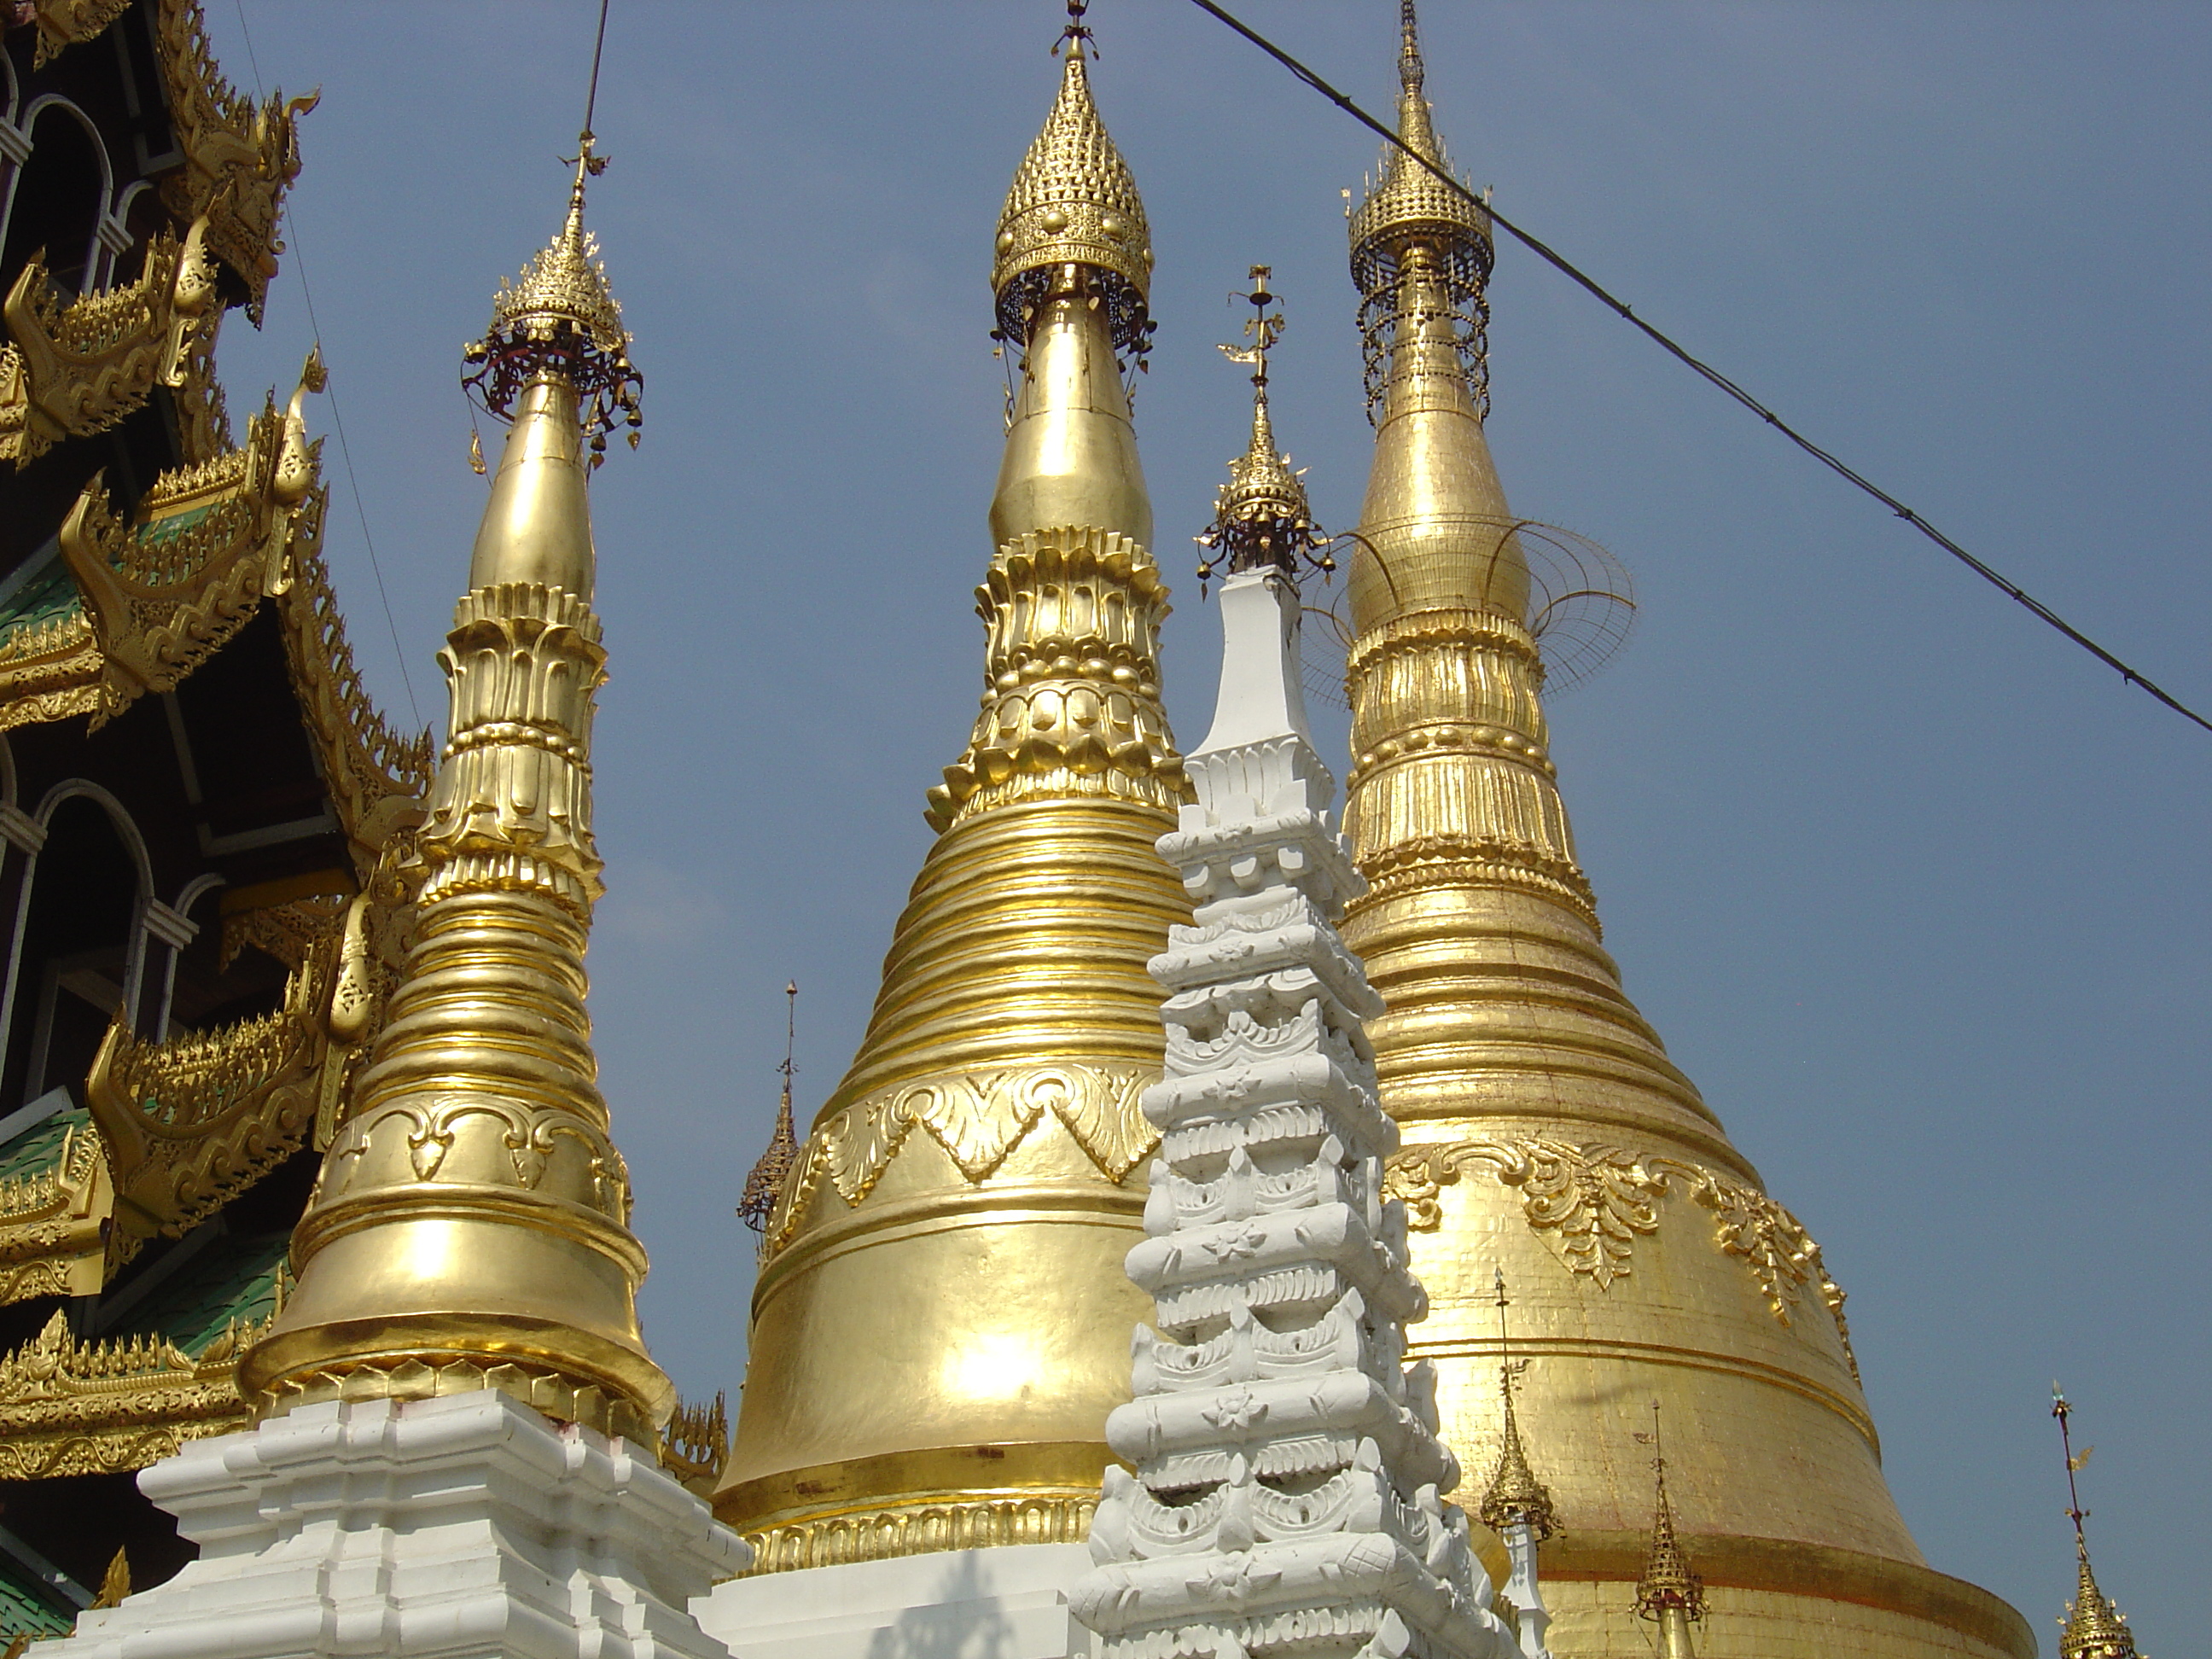
[[(1053, 272), (1084, 265), (1099, 276), (1113, 347), (1141, 363), (1152, 336), (1146, 294), (1152, 288), (1152, 230), (1144, 219), (1137, 179), (1106, 135), (1091, 100), (1084, 24), (1088, 0), (1068, 0), (1068, 24), (1053, 44), (1066, 55), (1060, 97), (1044, 128), (1013, 170), (1006, 206), (998, 215), (991, 292), (998, 294), (993, 338), (1029, 341)], [(1088, 46), (1095, 55), (1095, 46)]]

